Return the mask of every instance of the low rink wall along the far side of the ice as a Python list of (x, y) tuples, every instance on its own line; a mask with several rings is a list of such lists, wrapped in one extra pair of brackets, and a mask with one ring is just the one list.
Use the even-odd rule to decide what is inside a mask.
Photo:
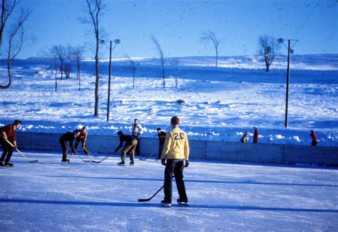
[[(39, 151), (60, 151), (58, 138), (61, 134), (18, 132), (18, 146), (21, 149)], [(108, 154), (119, 144), (116, 136), (89, 135), (88, 149), (92, 153)], [(240, 142), (217, 142), (189, 140), (190, 159), (208, 159), (230, 162), (258, 162), (277, 164), (326, 164), (338, 165), (338, 147), (311, 147), (286, 144), (252, 144)], [(147, 156), (156, 152), (158, 138), (140, 140), (140, 153)]]

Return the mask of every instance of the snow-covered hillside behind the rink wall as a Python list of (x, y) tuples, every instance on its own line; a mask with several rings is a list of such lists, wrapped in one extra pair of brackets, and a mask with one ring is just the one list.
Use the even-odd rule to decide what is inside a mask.
[[(86, 125), (89, 135), (116, 135), (118, 130), (129, 132), (138, 118), (143, 136), (156, 137), (157, 127), (169, 130), (170, 117), (178, 116), (190, 139), (239, 142), (248, 131), (252, 141), (257, 126), (263, 143), (309, 145), (314, 130), (319, 146), (337, 147), (338, 55), (292, 56), (287, 129), (286, 60), (278, 57), (267, 73), (255, 56), (222, 57), (218, 68), (210, 57), (168, 58), (163, 89), (159, 60), (135, 58), (134, 90), (126, 59), (113, 60), (109, 122), (107, 60), (101, 62), (98, 117), (93, 116), (93, 61), (82, 63), (81, 90), (73, 71), (68, 80), (58, 78), (54, 92), (51, 60), (16, 60), (13, 85), (0, 90), (0, 126), (20, 119), (26, 132), (63, 133)], [(1, 64), (0, 84), (6, 84), (4, 60)]]

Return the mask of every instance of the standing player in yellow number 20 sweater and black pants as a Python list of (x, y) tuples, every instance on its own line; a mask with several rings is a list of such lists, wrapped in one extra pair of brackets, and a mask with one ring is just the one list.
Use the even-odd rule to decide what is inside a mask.
[[(176, 186), (180, 198), (178, 204), (188, 205), (188, 197), (185, 193), (185, 184), (183, 181), (183, 167), (188, 167), (189, 162), (189, 144), (188, 137), (183, 130), (180, 130), (180, 119), (172, 117), (171, 126), (173, 127), (165, 137), (165, 144), (162, 153), (161, 163), (165, 165), (164, 171), (164, 199), (162, 206), (171, 206), (173, 195), (173, 174), (175, 174)], [(166, 160), (165, 160), (166, 159)], [(185, 161), (185, 164), (184, 164)]]

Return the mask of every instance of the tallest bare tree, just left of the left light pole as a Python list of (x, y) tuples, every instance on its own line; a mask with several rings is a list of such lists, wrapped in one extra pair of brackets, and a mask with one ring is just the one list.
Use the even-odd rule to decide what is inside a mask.
[(95, 82), (95, 106), (94, 106), (94, 115), (98, 115), (98, 80), (99, 70), (98, 70), (98, 56), (99, 56), (99, 41), (100, 41), (100, 20), (102, 16), (103, 4), (102, 0), (86, 0), (87, 3), (87, 13), (89, 19), (81, 19), (83, 23), (90, 23), (94, 29), (95, 39), (96, 39), (96, 51), (95, 51), (95, 70), (96, 70), (96, 82)]

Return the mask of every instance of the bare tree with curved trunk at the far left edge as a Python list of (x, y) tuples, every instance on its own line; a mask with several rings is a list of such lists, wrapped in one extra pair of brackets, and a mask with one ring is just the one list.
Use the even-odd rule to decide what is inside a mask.
[(8, 52), (7, 52), (7, 71), (9, 75), (9, 83), (0, 85), (0, 89), (11, 87), (11, 63), (19, 55), (22, 46), (24, 45), (24, 23), (27, 21), (31, 11), (21, 10), (18, 21), (16, 21), (9, 33)]

